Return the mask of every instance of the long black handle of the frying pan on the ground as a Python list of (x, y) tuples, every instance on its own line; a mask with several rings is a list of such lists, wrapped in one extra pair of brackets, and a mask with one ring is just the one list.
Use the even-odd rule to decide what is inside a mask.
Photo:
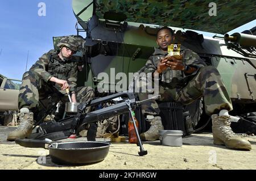
[(34, 140), (34, 139), (16, 139), (15, 143), (27, 148), (44, 148), (48, 149), (48, 145), (53, 143), (51, 140)]

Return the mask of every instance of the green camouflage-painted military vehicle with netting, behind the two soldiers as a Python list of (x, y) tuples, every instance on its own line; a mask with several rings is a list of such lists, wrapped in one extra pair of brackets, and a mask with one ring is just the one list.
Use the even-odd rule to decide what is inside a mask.
[[(141, 69), (156, 47), (156, 31), (168, 26), (181, 44), (220, 71), (232, 99), (233, 115), (256, 111), (255, 27), (245, 33), (226, 34), (256, 19), (256, 1), (73, 0), (72, 6), (78, 20), (77, 34), (86, 32), (80, 52), (84, 64), (80, 85), (96, 88), (102, 82), (102, 72), (115, 77)], [(193, 30), (217, 34), (207, 37)], [(112, 68), (114, 73), (110, 73)], [(110, 80), (104, 80), (106, 92), (131, 81)]]

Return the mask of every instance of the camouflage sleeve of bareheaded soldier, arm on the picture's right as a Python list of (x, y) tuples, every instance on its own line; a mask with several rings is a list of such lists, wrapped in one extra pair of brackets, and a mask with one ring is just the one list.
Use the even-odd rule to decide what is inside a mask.
[(205, 62), (199, 57), (199, 55), (189, 49), (185, 50), (183, 61), (186, 65), (192, 66), (193, 68), (197, 69), (189, 75), (195, 75), (200, 68), (206, 66)]

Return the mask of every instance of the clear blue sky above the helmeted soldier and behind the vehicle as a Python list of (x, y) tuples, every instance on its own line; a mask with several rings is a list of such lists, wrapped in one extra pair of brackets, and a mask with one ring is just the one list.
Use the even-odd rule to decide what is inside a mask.
[[(38, 15), (40, 2), (46, 4), (46, 16)], [(53, 36), (76, 34), (72, 0), (2, 0), (0, 22), (0, 73), (15, 79), (22, 79), (28, 51), (27, 70), (53, 49)], [(236, 31), (255, 25), (256, 20)]]

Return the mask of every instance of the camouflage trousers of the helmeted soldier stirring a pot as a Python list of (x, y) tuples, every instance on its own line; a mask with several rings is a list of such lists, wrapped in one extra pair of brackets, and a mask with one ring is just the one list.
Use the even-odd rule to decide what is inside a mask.
[[(86, 102), (94, 96), (92, 87), (77, 87), (76, 93), (77, 102), (80, 103)], [(35, 112), (42, 110), (42, 103), (47, 107), (47, 104), (49, 104), (47, 100), (49, 99), (51, 99), (51, 103), (57, 103), (59, 100), (63, 103), (69, 102), (65, 90), (56, 89), (56, 87), (44, 82), (38, 74), (32, 71), (24, 73), (18, 97), (19, 110), (26, 107), (28, 110), (34, 112), (35, 115)]]

